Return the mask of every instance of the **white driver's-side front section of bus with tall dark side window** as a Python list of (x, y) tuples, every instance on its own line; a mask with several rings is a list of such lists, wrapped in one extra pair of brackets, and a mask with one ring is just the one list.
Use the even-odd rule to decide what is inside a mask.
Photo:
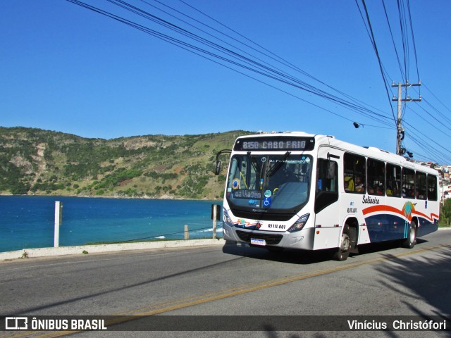
[(316, 163), (314, 250), (335, 248), (340, 243), (338, 199), (338, 151), (321, 147)]

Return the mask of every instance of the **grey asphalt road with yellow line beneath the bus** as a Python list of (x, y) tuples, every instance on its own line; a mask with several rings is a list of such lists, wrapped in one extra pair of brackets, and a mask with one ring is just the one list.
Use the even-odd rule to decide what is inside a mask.
[[(314, 324), (319, 332), (276, 332), (271, 325), (286, 315), (330, 316), (326, 321), (338, 315), (451, 315), (450, 256), (451, 230), (440, 230), (414, 249), (364, 246), (345, 262), (324, 253), (230, 245), (25, 258), (0, 263), (0, 315), (172, 315), (168, 326), (174, 327), (187, 315), (218, 316), (204, 319), (227, 327), (233, 325), (225, 315), (248, 321), (268, 316), (263, 332), (242, 332), (237, 324), (237, 332), (135, 332), (139, 337), (449, 337), (450, 331), (325, 332), (321, 323)], [(139, 321), (123, 321), (139, 330)], [(59, 334), (66, 332), (45, 337)], [(79, 336), (106, 334), (130, 337), (121, 331)]]

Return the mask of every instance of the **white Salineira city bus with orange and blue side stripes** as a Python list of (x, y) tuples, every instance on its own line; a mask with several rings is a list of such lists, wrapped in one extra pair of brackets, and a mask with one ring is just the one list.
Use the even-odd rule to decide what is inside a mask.
[[(438, 173), (402, 156), (332, 136), (282, 132), (238, 137), (230, 152), (223, 237), (278, 251), (358, 246), (438, 229)], [(216, 158), (216, 174), (221, 161)]]

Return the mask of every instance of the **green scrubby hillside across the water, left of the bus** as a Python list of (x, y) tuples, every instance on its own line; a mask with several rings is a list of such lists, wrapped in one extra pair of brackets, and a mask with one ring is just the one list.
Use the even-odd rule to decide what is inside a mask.
[(220, 199), (216, 153), (243, 134), (107, 140), (0, 127), (0, 194)]

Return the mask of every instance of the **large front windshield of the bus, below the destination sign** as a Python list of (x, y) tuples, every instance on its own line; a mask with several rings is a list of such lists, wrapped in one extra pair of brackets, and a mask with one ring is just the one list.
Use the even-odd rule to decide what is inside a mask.
[(230, 208), (296, 213), (309, 199), (312, 162), (311, 156), (289, 151), (233, 156), (226, 191)]

